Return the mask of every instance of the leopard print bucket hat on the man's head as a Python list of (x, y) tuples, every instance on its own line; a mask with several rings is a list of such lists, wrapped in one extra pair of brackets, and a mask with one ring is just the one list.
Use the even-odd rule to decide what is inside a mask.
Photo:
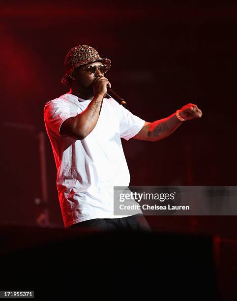
[(68, 85), (68, 78), (72, 76), (73, 70), (81, 65), (89, 64), (95, 61), (101, 61), (107, 65), (108, 69), (111, 65), (111, 60), (102, 59), (98, 52), (91, 46), (79, 45), (70, 49), (64, 60), (65, 75), (61, 79), (63, 85)]

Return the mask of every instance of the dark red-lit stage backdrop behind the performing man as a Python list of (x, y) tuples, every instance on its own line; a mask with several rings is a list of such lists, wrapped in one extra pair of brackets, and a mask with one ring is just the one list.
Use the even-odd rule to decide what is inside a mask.
[[(162, 119), (189, 102), (203, 111), (201, 120), (184, 122), (162, 141), (123, 141), (131, 185), (237, 185), (234, 4), (2, 1), (0, 20), (1, 223), (35, 224), (35, 199), (43, 199), (38, 148), (39, 132), (46, 135), (43, 107), (68, 91), (60, 83), (63, 60), (79, 44), (112, 60), (112, 88), (142, 119)], [(47, 136), (45, 144), (49, 222), (63, 227)], [(223, 218), (204, 218), (200, 229), (208, 231), (207, 225)], [(197, 226), (195, 217), (148, 221), (165, 231)]]

